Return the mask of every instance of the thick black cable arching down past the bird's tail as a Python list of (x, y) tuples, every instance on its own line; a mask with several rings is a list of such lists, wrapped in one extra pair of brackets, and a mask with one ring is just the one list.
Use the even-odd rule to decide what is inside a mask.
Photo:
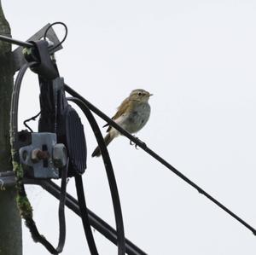
[(86, 116), (86, 118), (90, 123), (90, 127), (93, 130), (96, 136), (96, 141), (98, 142), (99, 148), (101, 149), (102, 159), (106, 168), (109, 188), (110, 188), (112, 202), (113, 202), (113, 212), (114, 212), (117, 235), (118, 235), (118, 241), (117, 241), (117, 245), (119, 249), (118, 254), (124, 255), (125, 254), (125, 230), (124, 230), (124, 223), (123, 223), (121, 205), (119, 200), (119, 192), (118, 192), (117, 183), (115, 181), (115, 177), (113, 173), (113, 166), (111, 164), (111, 160), (108, 154), (108, 149), (105, 145), (102, 132), (99, 126), (97, 125), (96, 119), (94, 119), (93, 114), (90, 113), (90, 109), (84, 104), (83, 101), (81, 101), (78, 98), (68, 98), (68, 100), (75, 102), (81, 108), (81, 110), (83, 111), (84, 115)]

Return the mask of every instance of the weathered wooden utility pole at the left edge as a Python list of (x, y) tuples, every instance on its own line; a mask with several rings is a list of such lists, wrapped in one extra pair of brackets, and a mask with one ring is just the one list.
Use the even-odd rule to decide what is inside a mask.
[[(1, 0), (0, 34), (11, 36), (9, 23), (3, 14)], [(11, 57), (11, 44), (0, 42), (0, 172), (12, 171), (9, 110), (13, 85), (14, 63)], [(21, 219), (15, 197), (15, 187), (0, 189), (0, 255), (22, 254)]]

